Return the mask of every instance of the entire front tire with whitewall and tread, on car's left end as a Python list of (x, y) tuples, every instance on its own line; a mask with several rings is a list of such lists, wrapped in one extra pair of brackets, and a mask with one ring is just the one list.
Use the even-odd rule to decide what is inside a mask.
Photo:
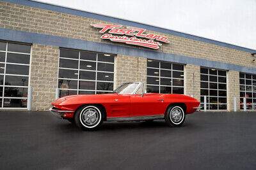
[(84, 130), (97, 129), (103, 120), (102, 110), (95, 105), (83, 106), (76, 111), (75, 123)]

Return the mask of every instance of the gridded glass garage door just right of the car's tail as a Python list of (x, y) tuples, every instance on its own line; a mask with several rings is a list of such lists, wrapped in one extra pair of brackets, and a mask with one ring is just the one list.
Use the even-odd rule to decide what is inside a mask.
[(200, 100), (204, 109), (206, 96), (207, 110), (227, 110), (226, 71), (200, 68)]

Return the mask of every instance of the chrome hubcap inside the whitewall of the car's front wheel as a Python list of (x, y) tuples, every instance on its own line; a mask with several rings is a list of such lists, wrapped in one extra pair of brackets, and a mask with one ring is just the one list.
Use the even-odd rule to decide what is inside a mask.
[(86, 125), (93, 125), (99, 120), (99, 113), (94, 108), (88, 108), (82, 113), (82, 120)]

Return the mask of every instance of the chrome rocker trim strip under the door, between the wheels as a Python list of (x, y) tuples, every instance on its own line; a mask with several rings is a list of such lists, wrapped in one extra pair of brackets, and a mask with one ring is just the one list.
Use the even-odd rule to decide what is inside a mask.
[(163, 119), (164, 115), (152, 115), (146, 117), (111, 117), (107, 118), (108, 122), (115, 121), (136, 121), (136, 120), (154, 120), (154, 119)]

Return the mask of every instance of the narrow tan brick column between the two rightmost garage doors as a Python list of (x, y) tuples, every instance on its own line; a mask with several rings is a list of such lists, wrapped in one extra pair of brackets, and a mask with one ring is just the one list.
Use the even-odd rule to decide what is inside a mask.
[(227, 71), (227, 110), (234, 111), (234, 97), (236, 97), (236, 110), (240, 110), (239, 72)]

